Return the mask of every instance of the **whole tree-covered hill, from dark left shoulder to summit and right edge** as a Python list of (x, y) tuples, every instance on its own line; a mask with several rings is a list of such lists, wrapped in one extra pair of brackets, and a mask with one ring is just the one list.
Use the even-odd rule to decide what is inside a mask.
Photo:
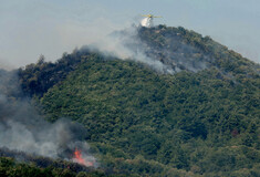
[(258, 176), (259, 65), (184, 28), (139, 28), (135, 39), (126, 45), (173, 74), (83, 48), (20, 69), (21, 86), (48, 119), (82, 123), (114, 171)]

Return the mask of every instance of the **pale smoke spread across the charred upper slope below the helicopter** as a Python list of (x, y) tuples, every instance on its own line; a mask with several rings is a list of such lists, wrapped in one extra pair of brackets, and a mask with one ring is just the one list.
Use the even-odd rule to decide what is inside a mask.
[[(147, 39), (153, 38), (166, 41), (164, 45)], [(160, 33), (162, 32), (162, 33)], [(157, 41), (158, 41), (157, 40)], [(132, 24), (124, 30), (111, 34), (89, 44), (89, 48), (98, 49), (103, 54), (114, 55), (122, 60), (132, 60), (144, 63), (159, 73), (174, 74), (180, 71), (198, 72), (207, 69), (214, 61), (199, 49), (181, 41), (179, 33), (164, 31), (164, 28), (153, 27), (150, 18), (144, 18), (139, 24)]]

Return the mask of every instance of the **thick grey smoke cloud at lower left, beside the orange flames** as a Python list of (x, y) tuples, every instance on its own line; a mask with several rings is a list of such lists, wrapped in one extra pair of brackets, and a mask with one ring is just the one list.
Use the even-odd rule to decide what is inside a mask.
[(85, 136), (85, 128), (69, 119), (44, 121), (22, 96), (15, 72), (0, 71), (0, 147), (74, 162), (77, 148), (86, 162), (97, 166)]

